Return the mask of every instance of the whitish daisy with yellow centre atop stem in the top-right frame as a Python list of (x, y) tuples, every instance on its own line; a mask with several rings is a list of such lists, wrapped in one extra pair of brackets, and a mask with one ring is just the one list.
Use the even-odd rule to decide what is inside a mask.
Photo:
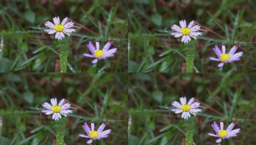
[[(190, 37), (197, 39), (197, 36), (201, 35), (202, 33), (200, 30), (200, 25), (193, 26), (194, 21), (191, 21), (187, 27), (186, 20), (179, 21), (180, 27), (176, 24), (171, 26), (171, 29), (175, 32), (172, 32), (171, 35), (174, 35), (174, 37), (180, 37), (181, 42), (188, 43), (191, 41)], [(193, 27), (192, 27), (193, 26)]]

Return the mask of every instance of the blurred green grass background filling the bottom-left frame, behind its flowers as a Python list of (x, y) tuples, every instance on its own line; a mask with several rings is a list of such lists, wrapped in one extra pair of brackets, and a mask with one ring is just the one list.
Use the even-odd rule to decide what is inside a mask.
[[(64, 122), (66, 145), (86, 145), (84, 122), (106, 123), (108, 138), (93, 145), (127, 145), (127, 74), (0, 74), (0, 145), (56, 145), (56, 127)], [(73, 113), (54, 123), (41, 112), (56, 97)], [(65, 117), (64, 117), (65, 118)]]

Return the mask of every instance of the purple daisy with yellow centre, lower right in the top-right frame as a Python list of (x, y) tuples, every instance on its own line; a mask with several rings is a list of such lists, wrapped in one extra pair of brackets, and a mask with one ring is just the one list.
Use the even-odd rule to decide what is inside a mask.
[(223, 67), (224, 63), (230, 63), (240, 60), (240, 57), (243, 55), (243, 52), (234, 53), (236, 49), (237, 47), (233, 46), (231, 50), (228, 53), (226, 53), (226, 47), (224, 45), (222, 45), (222, 51), (220, 51), (219, 47), (215, 45), (213, 51), (215, 52), (218, 58), (210, 57), (209, 59), (212, 61), (220, 62), (218, 64), (218, 67)]

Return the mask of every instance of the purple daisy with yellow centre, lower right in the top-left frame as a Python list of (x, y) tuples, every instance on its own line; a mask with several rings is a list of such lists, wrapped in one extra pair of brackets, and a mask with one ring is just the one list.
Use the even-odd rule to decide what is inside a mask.
[(107, 42), (102, 50), (100, 50), (100, 43), (96, 42), (96, 48), (93, 46), (92, 42), (89, 41), (89, 44), (87, 45), (89, 51), (91, 54), (84, 53), (83, 55), (85, 57), (91, 57), (94, 58), (92, 60), (92, 63), (95, 64), (98, 62), (98, 60), (101, 59), (107, 59), (108, 57), (113, 57), (114, 53), (117, 51), (117, 48), (110, 49), (111, 42)]

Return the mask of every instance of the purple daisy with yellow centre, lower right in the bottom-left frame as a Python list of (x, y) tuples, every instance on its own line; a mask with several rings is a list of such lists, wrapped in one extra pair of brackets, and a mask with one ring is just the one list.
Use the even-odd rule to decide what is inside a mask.
[(101, 124), (100, 127), (97, 129), (97, 131), (94, 130), (94, 123), (91, 123), (91, 128), (89, 128), (87, 123), (84, 123), (83, 128), (87, 135), (79, 134), (80, 137), (89, 138), (87, 141), (87, 144), (91, 144), (94, 140), (99, 140), (101, 138), (107, 138), (108, 135), (111, 133), (111, 129), (103, 131), (105, 128), (105, 124)]

